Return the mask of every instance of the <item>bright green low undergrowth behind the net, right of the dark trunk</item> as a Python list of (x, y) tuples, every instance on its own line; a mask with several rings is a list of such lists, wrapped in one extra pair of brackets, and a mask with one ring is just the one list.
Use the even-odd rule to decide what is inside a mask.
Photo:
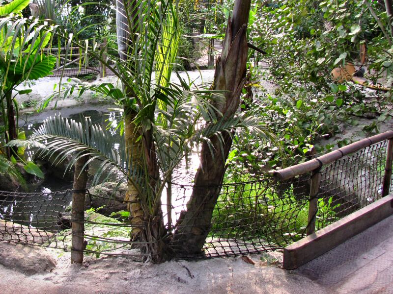
[[(213, 211), (209, 237), (287, 245), (306, 236), (309, 197), (294, 184), (276, 186), (266, 180), (223, 191)], [(333, 203), (332, 196), (318, 199), (316, 228), (338, 220), (335, 209), (339, 204)]]

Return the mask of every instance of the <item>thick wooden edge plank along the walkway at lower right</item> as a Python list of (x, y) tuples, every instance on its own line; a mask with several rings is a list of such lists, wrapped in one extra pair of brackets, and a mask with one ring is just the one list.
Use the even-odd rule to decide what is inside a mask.
[(284, 248), (283, 267), (293, 270), (393, 214), (393, 194)]

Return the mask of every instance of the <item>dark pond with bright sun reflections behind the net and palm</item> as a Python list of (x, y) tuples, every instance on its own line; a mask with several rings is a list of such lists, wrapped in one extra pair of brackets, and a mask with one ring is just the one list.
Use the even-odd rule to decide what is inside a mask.
[[(77, 122), (84, 122), (85, 117), (89, 117), (93, 123), (97, 123), (102, 127), (107, 127), (108, 133), (111, 135), (108, 139), (110, 140), (111, 146), (115, 150), (121, 148), (121, 140), (116, 126), (121, 120), (122, 113), (114, 112), (109, 110), (110, 107), (104, 105), (88, 105), (84, 107), (72, 107), (65, 108), (61, 111), (57, 111), (56, 114), (61, 114), (65, 118), (73, 119)], [(25, 116), (19, 122), (19, 125), (29, 137), (33, 134), (44, 119), (47, 117), (47, 113), (42, 113), (35, 116)], [(54, 115), (54, 114), (53, 114)], [(28, 160), (34, 158), (34, 153), (37, 152), (34, 149), (26, 151), (26, 157)], [(89, 178), (87, 187), (91, 187), (93, 177), (99, 162), (92, 162), (89, 165)], [(195, 176), (195, 172), (199, 166), (199, 157), (197, 153), (192, 153), (184, 159), (179, 166), (174, 170), (172, 181), (178, 184), (190, 185)], [(123, 178), (122, 174), (111, 174), (108, 181), (118, 182)], [(59, 212), (64, 211), (65, 207), (71, 204), (71, 193), (56, 193), (65, 190), (72, 189), (72, 182), (61, 180), (54, 176), (49, 176), (45, 181), (36, 188), (34, 192), (36, 194), (29, 195), (28, 197), (20, 198), (7, 197), (2, 199), (0, 204), (0, 219), (8, 219), (17, 221), (18, 223), (25, 224), (28, 226), (34, 226), (46, 230), (56, 230), (56, 220)], [(191, 196), (191, 190), (188, 190), (186, 195), (184, 191), (182, 196), (177, 199), (177, 194), (180, 191), (176, 190), (176, 186), (172, 189), (172, 205), (175, 207), (172, 211), (172, 219), (176, 220), (176, 214), (180, 213), (181, 210), (185, 209), (185, 203)], [(162, 195), (162, 207), (164, 214), (166, 214), (167, 195), (166, 189)], [(167, 217), (165, 217), (167, 221)]]

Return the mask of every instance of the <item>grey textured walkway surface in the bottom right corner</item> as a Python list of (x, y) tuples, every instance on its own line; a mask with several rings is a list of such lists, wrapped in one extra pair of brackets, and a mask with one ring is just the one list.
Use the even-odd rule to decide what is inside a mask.
[(393, 216), (296, 272), (337, 294), (393, 294)]

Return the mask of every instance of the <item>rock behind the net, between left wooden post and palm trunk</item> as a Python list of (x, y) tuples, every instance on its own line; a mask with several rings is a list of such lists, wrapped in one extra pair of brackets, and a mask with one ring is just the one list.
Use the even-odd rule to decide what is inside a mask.
[(86, 195), (85, 209), (99, 208), (99, 213), (104, 216), (110, 216), (112, 212), (118, 212), (120, 210), (127, 210), (127, 203), (124, 203), (124, 196), (128, 189), (126, 184), (121, 184), (117, 191), (117, 183), (104, 183), (89, 189), (91, 196)]

